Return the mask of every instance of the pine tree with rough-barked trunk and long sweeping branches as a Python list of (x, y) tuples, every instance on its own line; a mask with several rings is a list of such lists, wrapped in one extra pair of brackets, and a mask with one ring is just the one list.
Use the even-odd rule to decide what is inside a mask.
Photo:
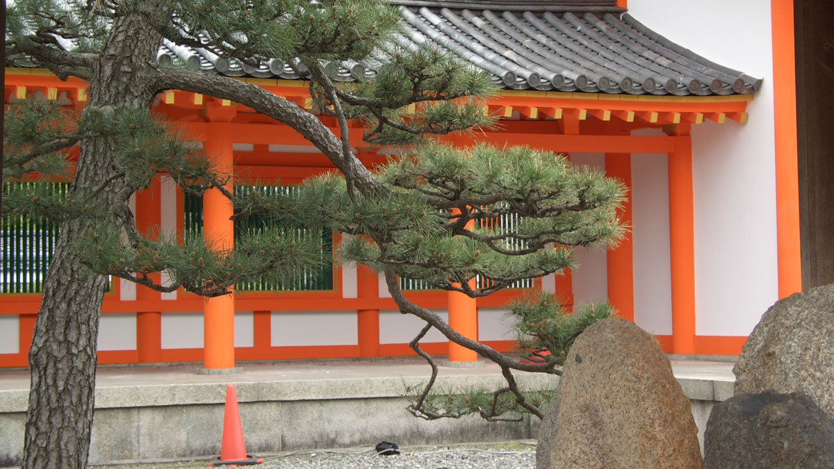
[[(19, 103), (9, 107), (4, 126), (4, 181), (61, 177), (68, 174), (68, 149), (79, 149), (67, 195), (23, 189), (4, 194), (4, 214), (53, 219), (61, 227), (29, 352), (24, 467), (86, 466), (107, 275), (159, 291), (182, 287), (214, 296), (235, 283), (280, 280), (318, 262), (317, 245), (289, 239), (281, 229), (243, 235), (230, 252), (212, 250), (198, 236), (182, 245), (149, 239), (136, 229), (128, 198), (157, 174), (168, 174), (192, 194), (224, 191), (234, 200), (235, 217), (265, 214), (353, 235), (341, 257), (384, 273), (399, 308), (426, 321), (412, 344), (435, 372), (418, 345), (430, 327), (498, 363), (509, 401), (535, 412), (510, 370), (558, 373), (559, 361), (540, 352), (558, 357), (581, 320), (565, 323), (547, 298), (518, 305), (521, 338), (540, 358), (525, 363), (458, 334), (406, 300), (396, 279), (477, 297), (559, 273), (574, 266), (572, 246), (618, 239), (615, 210), (623, 188), (555, 154), (438, 144), (438, 135), (495, 125), (483, 113), (495, 86), (489, 74), (443, 50), (398, 47), (392, 40), (398, 30), (399, 13), (383, 0), (18, 0), (9, 6), (7, 63), (25, 60), (59, 78), (89, 83), (82, 112)], [(268, 58), (292, 63), (339, 132), (263, 88), (159, 65), (163, 38), (253, 66)], [(325, 71), (330, 60), (359, 62), (371, 53), (384, 66), (364, 82), (337, 86)], [(339, 174), (305, 181), (295, 197), (231, 194), (224, 189), (228, 174), (148, 112), (153, 98), (169, 89), (229, 99), (287, 124)], [(367, 129), (366, 141), (397, 145), (404, 156), (371, 173), (349, 145), (349, 124), (357, 121)], [(500, 216), (518, 217), (518, 229), (490, 228), (489, 220)], [(151, 274), (162, 271), (172, 284), (153, 282)], [(468, 280), (475, 277), (484, 281), (473, 289)], [(605, 313), (591, 310), (588, 317), (595, 314)], [(422, 406), (429, 391), (412, 410), (425, 418), (443, 416)]]

